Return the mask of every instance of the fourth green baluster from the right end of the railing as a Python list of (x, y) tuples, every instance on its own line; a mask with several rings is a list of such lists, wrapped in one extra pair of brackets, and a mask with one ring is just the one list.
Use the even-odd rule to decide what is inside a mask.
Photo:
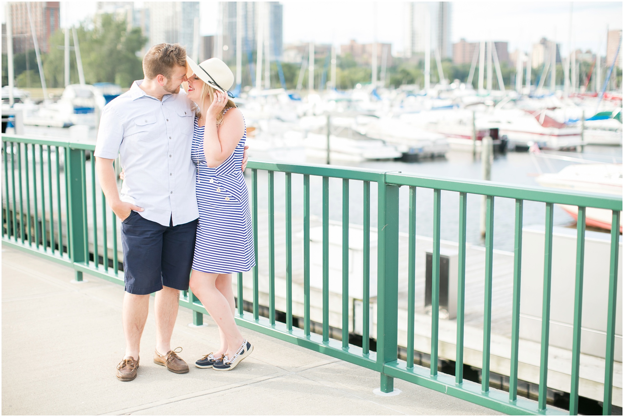
[(509, 371), (509, 401), (517, 400), (518, 394), (518, 349), (520, 340), (520, 272), (522, 268), (522, 214), (524, 200), (515, 200), (514, 230), (514, 294), (511, 316), (511, 368)]

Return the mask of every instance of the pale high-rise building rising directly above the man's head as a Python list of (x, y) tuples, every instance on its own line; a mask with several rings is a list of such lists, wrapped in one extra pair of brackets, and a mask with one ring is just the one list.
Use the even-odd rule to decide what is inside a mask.
[(163, 42), (179, 43), (186, 47), (189, 56), (193, 56), (195, 42), (199, 41), (195, 39), (195, 35), (199, 34), (199, 2), (146, 1), (144, 4), (147, 14), (137, 17), (149, 19), (149, 32), (144, 32), (149, 38), (148, 46)]

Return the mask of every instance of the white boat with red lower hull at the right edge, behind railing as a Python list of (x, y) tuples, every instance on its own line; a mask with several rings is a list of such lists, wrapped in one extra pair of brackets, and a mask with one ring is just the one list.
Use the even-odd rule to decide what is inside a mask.
[[(568, 165), (556, 174), (542, 174), (537, 182), (543, 187), (557, 189), (613, 194), (622, 197), (622, 164), (574, 164)], [(559, 205), (573, 218), (578, 217), (575, 205)], [(611, 230), (611, 210), (587, 207), (585, 223), (588, 226)], [(624, 218), (620, 217), (620, 232)]]

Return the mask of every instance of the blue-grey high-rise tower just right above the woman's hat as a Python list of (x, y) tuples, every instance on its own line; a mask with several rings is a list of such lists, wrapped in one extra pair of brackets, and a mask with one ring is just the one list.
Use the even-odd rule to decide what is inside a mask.
[[(236, 59), (236, 25), (238, 3), (235, 1), (222, 1), (219, 4), (221, 16), (221, 34), (223, 48), (223, 61), (233, 63)], [(265, 39), (268, 36), (271, 60), (281, 59), (283, 52), (283, 6), (276, 1), (251, 2), (243, 1), (241, 7), (241, 26), (243, 55), (257, 49), (258, 25), (260, 24), (261, 8), (268, 19), (263, 28)], [(266, 33), (268, 31), (268, 34)]]

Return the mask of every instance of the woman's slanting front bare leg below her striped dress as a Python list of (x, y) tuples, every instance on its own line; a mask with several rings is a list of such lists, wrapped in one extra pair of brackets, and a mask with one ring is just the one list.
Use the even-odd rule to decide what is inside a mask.
[[(197, 295), (208, 313), (219, 329), (223, 331), (223, 336), (227, 341), (228, 349), (226, 355), (232, 358), (235, 355), (238, 346), (243, 343), (243, 336), (238, 331), (234, 315), (232, 313), (232, 305), (226, 297), (217, 289), (217, 273), (205, 273), (193, 270), (190, 279), (190, 288), (193, 294)], [(232, 291), (230, 289), (230, 291)]]

